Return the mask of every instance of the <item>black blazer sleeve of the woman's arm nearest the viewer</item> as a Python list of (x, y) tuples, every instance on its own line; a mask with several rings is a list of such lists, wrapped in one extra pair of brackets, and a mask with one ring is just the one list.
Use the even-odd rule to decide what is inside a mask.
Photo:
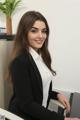
[(16, 94), (16, 101), (23, 113), (39, 120), (64, 120), (55, 112), (47, 110), (42, 105), (34, 101), (31, 89), (31, 81), (29, 74), (29, 62), (15, 60), (11, 65), (11, 75), (13, 81), (13, 89)]

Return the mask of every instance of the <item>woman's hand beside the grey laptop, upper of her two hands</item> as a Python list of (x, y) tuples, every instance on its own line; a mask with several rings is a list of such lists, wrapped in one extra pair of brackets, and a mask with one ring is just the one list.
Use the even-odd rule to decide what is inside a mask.
[(57, 98), (58, 98), (58, 101), (64, 105), (67, 112), (70, 112), (70, 104), (69, 104), (69, 101), (67, 100), (67, 98), (60, 93), (57, 95)]

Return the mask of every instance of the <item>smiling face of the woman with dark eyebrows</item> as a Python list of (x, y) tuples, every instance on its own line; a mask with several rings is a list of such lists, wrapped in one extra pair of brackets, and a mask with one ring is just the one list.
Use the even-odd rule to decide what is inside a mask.
[(28, 32), (29, 46), (38, 50), (44, 44), (47, 37), (46, 25), (43, 21), (37, 20)]

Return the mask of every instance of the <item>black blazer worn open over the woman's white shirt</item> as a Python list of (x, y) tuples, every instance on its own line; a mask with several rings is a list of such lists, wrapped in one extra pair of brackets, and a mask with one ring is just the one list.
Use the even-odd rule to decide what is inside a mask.
[[(38, 68), (27, 50), (23, 50), (12, 63), (10, 72), (13, 81), (13, 96), (9, 110), (25, 120), (63, 120), (55, 112), (42, 106), (43, 87)], [(52, 92), (52, 82), (49, 89), (49, 99), (57, 99), (57, 92)]]

